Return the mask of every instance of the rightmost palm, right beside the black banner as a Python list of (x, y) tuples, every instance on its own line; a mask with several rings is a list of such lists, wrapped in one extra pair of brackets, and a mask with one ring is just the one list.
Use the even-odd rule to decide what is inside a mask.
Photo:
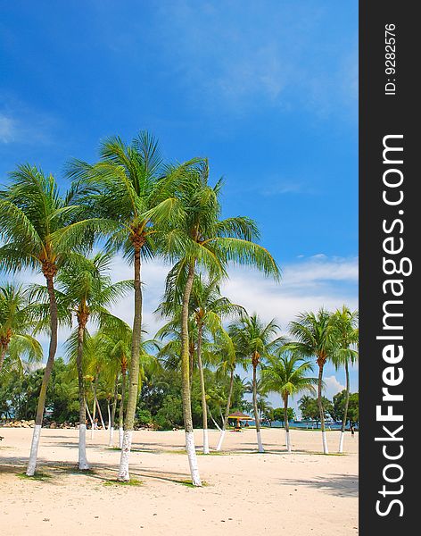
[(341, 437), (339, 440), (339, 452), (343, 452), (343, 438), (345, 435), (345, 426), (348, 414), (348, 405), (350, 403), (350, 370), (349, 365), (357, 362), (359, 358), (358, 343), (359, 343), (359, 329), (358, 329), (359, 312), (351, 312), (347, 306), (343, 306), (342, 309), (338, 309), (334, 313), (334, 337), (337, 340), (338, 348), (334, 356), (334, 365), (336, 369), (343, 365), (345, 368), (346, 379), (346, 394), (345, 394), (345, 407), (343, 411), (343, 423), (341, 427)]

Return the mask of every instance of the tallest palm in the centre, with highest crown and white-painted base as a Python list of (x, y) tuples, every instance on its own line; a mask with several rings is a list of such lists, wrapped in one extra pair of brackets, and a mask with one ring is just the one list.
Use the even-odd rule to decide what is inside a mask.
[(177, 214), (177, 198), (169, 197), (168, 183), (188, 165), (182, 164), (166, 172), (157, 141), (147, 132), (141, 132), (130, 145), (119, 137), (105, 140), (100, 147), (100, 161), (94, 165), (73, 161), (69, 166), (75, 197), (83, 200), (91, 214), (106, 217), (114, 224), (107, 247), (122, 251), (134, 266), (135, 311), (120, 481), (130, 478), (128, 460), (139, 392), (142, 258), (154, 255), (160, 223), (168, 223)]

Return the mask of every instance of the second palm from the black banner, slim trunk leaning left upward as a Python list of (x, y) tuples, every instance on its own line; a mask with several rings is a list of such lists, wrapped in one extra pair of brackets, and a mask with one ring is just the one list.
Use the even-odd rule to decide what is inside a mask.
[(323, 307), (318, 314), (302, 313), (297, 320), (291, 322), (290, 332), (295, 339), (290, 348), (296, 349), (301, 356), (316, 356), (318, 364), (318, 411), (320, 414), (320, 428), (323, 440), (323, 452), (329, 454), (326, 440), (325, 412), (322, 403), (323, 368), (328, 358), (335, 352), (334, 323), (332, 314)]

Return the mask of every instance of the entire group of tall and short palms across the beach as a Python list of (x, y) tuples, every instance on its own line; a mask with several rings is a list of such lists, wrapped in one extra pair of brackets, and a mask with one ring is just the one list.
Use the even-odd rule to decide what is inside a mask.
[[(39, 359), (42, 351), (34, 337), (40, 331), (49, 334), (27, 468), (29, 476), (36, 471), (45, 395), (60, 324), (75, 326), (67, 351), (78, 374), (81, 470), (89, 467), (87, 383), (95, 400), (94, 415), (88, 412), (93, 420), (95, 408), (101, 412), (95, 394), (98, 374), (109, 375), (112, 387), (107, 397), (113, 399), (109, 418), (112, 444), (120, 378), (120, 481), (129, 480), (136, 403), (144, 363), (152, 359), (151, 354), (161, 363), (179, 368), (186, 452), (195, 486), (202, 482), (191, 407), (194, 364), (198, 366), (202, 389), (203, 452), (209, 453), (204, 366), (218, 367), (230, 379), (217, 447), (220, 449), (227, 429), (235, 367), (239, 364), (246, 367), (249, 363), (258, 445), (263, 451), (257, 417), (259, 367), (267, 385), (265, 389), (280, 392), (287, 411), (288, 397), (312, 389), (314, 384), (314, 379), (306, 377), (311, 368), (306, 357), (317, 356), (320, 398), (326, 360), (348, 366), (357, 355), (353, 349), (356, 319), (346, 308), (342, 323), (339, 312), (332, 315), (321, 310), (318, 315), (302, 315), (292, 323), (292, 342), (277, 336), (275, 321), (265, 325), (256, 314), (247, 314), (243, 307), (220, 295), (219, 285), (227, 279), (230, 264), (251, 266), (276, 280), (280, 272), (272, 255), (257, 243), (259, 231), (255, 222), (243, 216), (221, 218), (223, 183), (219, 180), (210, 186), (206, 159), (165, 163), (157, 141), (147, 132), (141, 132), (129, 144), (118, 137), (105, 140), (97, 162), (73, 160), (66, 172), (71, 185), (65, 196), (60, 194), (52, 175), (46, 176), (29, 164), (20, 165), (10, 173), (8, 184), (0, 191), (0, 270), (11, 274), (31, 270), (45, 278), (45, 286), (22, 289), (10, 283), (0, 290), (0, 367), (6, 355), (12, 361), (15, 356), (15, 362), (19, 362), (21, 355)], [(133, 266), (134, 277), (113, 283), (110, 264), (119, 253)], [(147, 341), (142, 322), (142, 286), (147, 281), (141, 276), (141, 268), (144, 260), (153, 262), (157, 258), (170, 266), (165, 294), (157, 311), (169, 322), (153, 341)], [(130, 328), (111, 314), (110, 308), (133, 290)], [(7, 307), (14, 307), (13, 314)], [(9, 317), (13, 320), (8, 323), (4, 319)], [(226, 329), (223, 321), (229, 318), (231, 323)], [(89, 322), (95, 322), (98, 328), (95, 334), (88, 331)], [(350, 331), (350, 326), (354, 331)], [(324, 421), (322, 432), (325, 432)], [(290, 449), (289, 431), (286, 433)]]

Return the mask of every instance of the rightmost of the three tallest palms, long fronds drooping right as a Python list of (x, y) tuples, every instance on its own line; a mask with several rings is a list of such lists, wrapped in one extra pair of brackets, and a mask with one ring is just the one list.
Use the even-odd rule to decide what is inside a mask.
[(222, 181), (219, 180), (212, 188), (208, 178), (208, 162), (203, 161), (180, 184), (178, 194), (184, 213), (179, 215), (175, 228), (178, 244), (175, 245), (174, 241), (170, 244), (172, 256), (178, 257), (178, 261), (167, 278), (167, 290), (181, 295), (183, 416), (186, 451), (194, 486), (202, 485), (194, 448), (188, 359), (188, 317), (194, 273), (197, 268), (202, 268), (209, 272), (210, 278), (219, 279), (227, 275), (227, 264), (234, 262), (253, 266), (266, 275), (279, 275), (277, 264), (268, 250), (253, 242), (259, 232), (250, 218), (219, 219)]

